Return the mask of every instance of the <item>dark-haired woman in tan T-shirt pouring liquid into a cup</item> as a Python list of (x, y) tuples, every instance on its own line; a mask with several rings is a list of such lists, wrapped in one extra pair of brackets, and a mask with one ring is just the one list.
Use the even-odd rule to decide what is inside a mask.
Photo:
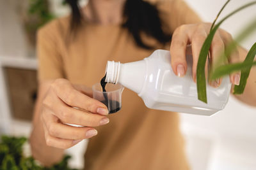
[[(108, 115), (106, 106), (92, 99), (90, 87), (104, 76), (107, 60), (141, 60), (159, 48), (170, 50), (172, 69), (182, 77), (189, 44), (195, 80), (198, 54), (211, 24), (202, 23), (181, 0), (91, 0), (80, 10), (77, 1), (68, 3), (70, 17), (54, 20), (38, 32), (39, 91), (31, 133), (34, 157), (49, 166), (61, 159), (66, 148), (90, 138), (84, 169), (189, 169), (177, 113), (149, 110), (140, 97), (125, 90), (122, 110)], [(213, 64), (229, 41), (227, 32), (216, 33)], [(245, 55), (239, 48), (230, 62)], [(244, 94), (237, 97), (254, 106), (255, 72)], [(230, 81), (239, 84), (239, 77), (231, 74)], [(211, 85), (220, 83), (215, 80)]]

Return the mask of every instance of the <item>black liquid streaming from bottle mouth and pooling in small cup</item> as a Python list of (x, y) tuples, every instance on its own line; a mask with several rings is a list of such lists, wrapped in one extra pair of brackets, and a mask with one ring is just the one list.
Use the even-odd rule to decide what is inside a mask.
[[(100, 80), (102, 92), (106, 92), (107, 82), (105, 82), (105, 80), (106, 80), (106, 74)], [(104, 103), (108, 107), (109, 113), (116, 113), (117, 111), (119, 111), (121, 109), (121, 104), (118, 101), (108, 100), (108, 95), (106, 93), (103, 93), (103, 96), (104, 96), (105, 100), (101, 101), (101, 102)]]

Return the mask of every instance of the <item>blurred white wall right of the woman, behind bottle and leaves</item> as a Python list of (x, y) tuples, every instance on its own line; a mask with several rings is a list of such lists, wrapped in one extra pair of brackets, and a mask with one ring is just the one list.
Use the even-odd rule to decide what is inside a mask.
[[(221, 0), (186, 1), (205, 22), (212, 22), (225, 3)], [(221, 17), (248, 2), (231, 1)], [(221, 27), (236, 37), (244, 25), (255, 17), (256, 6), (252, 6), (228, 19)], [(256, 32), (253, 32), (241, 45), (249, 49), (255, 41)], [(193, 169), (256, 169), (256, 108), (246, 106), (231, 96), (225, 110), (211, 117), (180, 115)]]

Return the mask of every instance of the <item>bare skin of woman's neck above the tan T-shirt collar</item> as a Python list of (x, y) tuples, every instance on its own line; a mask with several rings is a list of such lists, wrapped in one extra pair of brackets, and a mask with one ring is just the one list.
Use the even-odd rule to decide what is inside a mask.
[(90, 22), (110, 25), (121, 24), (125, 0), (90, 0), (84, 7), (84, 17)]

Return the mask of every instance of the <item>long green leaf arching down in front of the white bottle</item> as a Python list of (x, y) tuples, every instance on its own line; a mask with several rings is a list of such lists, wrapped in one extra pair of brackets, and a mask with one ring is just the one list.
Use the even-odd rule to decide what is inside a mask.
[(243, 10), (244, 8), (247, 8), (248, 6), (252, 6), (253, 4), (256, 4), (256, 1), (253, 1), (251, 3), (245, 4), (244, 6), (241, 6), (240, 8), (237, 8), (236, 10), (232, 11), (232, 13), (228, 14), (226, 17), (224, 17), (218, 24), (216, 24), (212, 31), (209, 32), (209, 35), (204, 41), (204, 44), (201, 48), (198, 64), (196, 67), (196, 87), (197, 87), (197, 93), (198, 93), (198, 99), (200, 101), (203, 101), (204, 103), (207, 103), (207, 95), (206, 95), (206, 80), (205, 80), (205, 62), (207, 59), (207, 55), (209, 52), (209, 49), (211, 47), (211, 42), (214, 37), (214, 34), (220, 27), (220, 25), (227, 20), (227, 18), (231, 17), (238, 11)]

